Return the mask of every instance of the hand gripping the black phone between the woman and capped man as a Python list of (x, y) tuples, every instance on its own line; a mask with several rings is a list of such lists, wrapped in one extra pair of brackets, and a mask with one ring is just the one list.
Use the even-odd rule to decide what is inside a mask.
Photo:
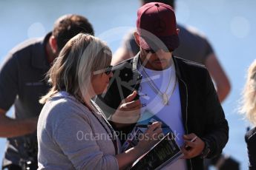
[(140, 103), (140, 100), (134, 101), (136, 95), (136, 91), (131, 95), (128, 95), (116, 109), (116, 112), (111, 115), (111, 121), (116, 123), (116, 126), (120, 124), (137, 123), (137, 120), (139, 120), (142, 104)]

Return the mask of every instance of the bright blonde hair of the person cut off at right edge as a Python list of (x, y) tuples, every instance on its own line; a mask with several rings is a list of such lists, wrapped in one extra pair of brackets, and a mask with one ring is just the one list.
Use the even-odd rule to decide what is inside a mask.
[(256, 60), (250, 65), (246, 85), (243, 89), (243, 99), (240, 112), (256, 125)]

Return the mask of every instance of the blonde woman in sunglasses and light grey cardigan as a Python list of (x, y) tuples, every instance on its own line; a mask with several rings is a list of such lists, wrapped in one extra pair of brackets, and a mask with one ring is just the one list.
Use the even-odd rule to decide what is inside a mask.
[(39, 169), (125, 169), (157, 142), (160, 122), (148, 128), (148, 137), (137, 146), (120, 153), (118, 137), (91, 101), (113, 75), (109, 64), (111, 50), (92, 35), (76, 35), (60, 52), (48, 72), (52, 88), (41, 100), (45, 106), (37, 133)]

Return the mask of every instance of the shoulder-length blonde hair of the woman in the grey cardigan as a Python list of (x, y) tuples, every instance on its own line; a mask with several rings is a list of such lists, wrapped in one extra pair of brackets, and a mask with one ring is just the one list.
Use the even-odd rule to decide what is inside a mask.
[(91, 86), (91, 75), (94, 71), (108, 67), (111, 57), (108, 46), (93, 35), (79, 33), (71, 38), (47, 73), (52, 88), (40, 103), (45, 103), (59, 91), (66, 91), (83, 101)]

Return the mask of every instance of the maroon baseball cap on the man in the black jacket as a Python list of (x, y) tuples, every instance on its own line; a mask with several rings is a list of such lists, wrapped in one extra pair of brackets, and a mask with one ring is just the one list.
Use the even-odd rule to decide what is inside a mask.
[(173, 51), (179, 47), (175, 13), (168, 4), (151, 2), (140, 7), (137, 31), (142, 49)]

